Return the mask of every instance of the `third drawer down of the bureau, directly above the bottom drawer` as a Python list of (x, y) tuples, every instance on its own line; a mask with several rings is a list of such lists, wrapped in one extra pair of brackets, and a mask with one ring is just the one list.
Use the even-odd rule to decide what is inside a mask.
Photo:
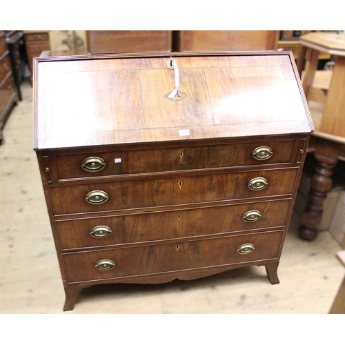
[[(62, 250), (286, 226), (290, 199), (57, 221)], [(243, 219), (245, 217), (245, 219)]]

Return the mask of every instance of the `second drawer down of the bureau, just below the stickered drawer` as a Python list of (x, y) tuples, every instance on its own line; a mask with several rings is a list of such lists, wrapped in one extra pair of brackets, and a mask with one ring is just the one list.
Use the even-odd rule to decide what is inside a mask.
[[(297, 170), (259, 170), (51, 187), (50, 195), (55, 215), (290, 195), (295, 186)], [(258, 186), (263, 185), (262, 180), (268, 184), (261, 190), (251, 190), (248, 185), (253, 180), (258, 180)], [(86, 199), (92, 200), (92, 204)]]

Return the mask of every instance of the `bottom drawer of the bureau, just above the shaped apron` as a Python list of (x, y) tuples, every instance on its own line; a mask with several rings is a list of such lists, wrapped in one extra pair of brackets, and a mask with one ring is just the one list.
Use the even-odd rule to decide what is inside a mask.
[[(283, 233), (279, 230), (174, 244), (93, 250), (63, 254), (62, 257), (70, 283), (150, 275), (275, 259), (279, 255)], [(251, 253), (240, 254), (237, 249), (243, 244), (251, 244), (255, 249)], [(109, 262), (115, 266), (105, 270), (95, 267), (99, 263), (100, 268), (107, 268)]]

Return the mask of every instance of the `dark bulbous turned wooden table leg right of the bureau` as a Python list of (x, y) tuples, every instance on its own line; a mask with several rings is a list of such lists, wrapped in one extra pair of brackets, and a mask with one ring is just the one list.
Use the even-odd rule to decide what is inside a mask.
[(317, 237), (317, 227), (322, 217), (322, 204), (327, 193), (332, 188), (333, 168), (336, 166), (339, 154), (339, 144), (318, 138), (316, 140), (315, 158), (317, 165), (311, 179), (308, 204), (302, 213), (301, 226), (298, 235), (306, 241)]

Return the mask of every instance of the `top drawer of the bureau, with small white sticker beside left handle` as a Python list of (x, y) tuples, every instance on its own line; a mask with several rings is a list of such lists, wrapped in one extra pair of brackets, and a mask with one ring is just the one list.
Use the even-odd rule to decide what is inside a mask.
[[(95, 152), (90, 155), (57, 155), (57, 170), (59, 179), (72, 179), (77, 177), (289, 163), (294, 142), (294, 140), (258, 141), (249, 144), (123, 150)], [(257, 148), (262, 149), (255, 151)], [(268, 153), (269, 149), (273, 152), (272, 155)], [(255, 158), (253, 152), (255, 152), (255, 157), (259, 157)], [(94, 164), (94, 166), (92, 167), (91, 164)]]

